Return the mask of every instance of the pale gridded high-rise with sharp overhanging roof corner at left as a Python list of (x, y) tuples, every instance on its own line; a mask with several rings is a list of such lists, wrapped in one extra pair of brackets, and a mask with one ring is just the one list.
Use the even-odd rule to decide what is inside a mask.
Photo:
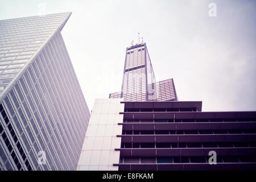
[(0, 20), (0, 169), (76, 169), (90, 112), (61, 30), (71, 13)]

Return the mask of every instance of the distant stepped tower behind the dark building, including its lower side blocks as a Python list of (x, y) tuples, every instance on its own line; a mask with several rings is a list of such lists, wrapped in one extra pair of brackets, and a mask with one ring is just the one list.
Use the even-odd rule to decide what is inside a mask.
[(155, 80), (146, 43), (126, 48), (122, 91), (110, 93), (109, 98), (123, 98), (124, 101), (170, 101), (177, 100), (174, 80), (171, 84), (159, 84)]

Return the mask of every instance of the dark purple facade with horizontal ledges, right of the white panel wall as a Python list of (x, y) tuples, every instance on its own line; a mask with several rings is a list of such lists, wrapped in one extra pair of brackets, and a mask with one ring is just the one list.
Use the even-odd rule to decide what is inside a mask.
[[(203, 112), (201, 102), (124, 103), (119, 170), (256, 169), (256, 112)], [(209, 164), (210, 151), (217, 164)]]

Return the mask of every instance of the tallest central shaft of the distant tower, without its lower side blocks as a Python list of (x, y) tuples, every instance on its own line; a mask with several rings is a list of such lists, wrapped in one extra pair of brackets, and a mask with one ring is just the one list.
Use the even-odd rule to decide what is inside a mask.
[(146, 43), (126, 48), (121, 97), (125, 101), (156, 100), (155, 75)]

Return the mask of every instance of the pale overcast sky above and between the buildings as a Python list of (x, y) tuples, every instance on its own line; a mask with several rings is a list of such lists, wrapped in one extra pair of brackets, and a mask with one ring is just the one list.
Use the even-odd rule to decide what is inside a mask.
[(121, 90), (126, 47), (140, 32), (156, 81), (174, 78), (180, 101), (256, 110), (256, 1), (0, 1), (0, 19), (42, 10), (72, 11), (62, 35), (89, 109)]

